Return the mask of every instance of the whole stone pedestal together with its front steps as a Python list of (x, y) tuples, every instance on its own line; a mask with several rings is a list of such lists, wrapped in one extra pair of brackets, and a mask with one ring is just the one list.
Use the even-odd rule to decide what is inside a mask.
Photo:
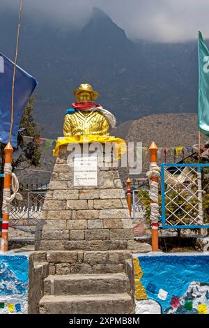
[[(134, 313), (134, 237), (118, 167), (104, 167), (100, 156), (83, 174), (79, 160), (76, 170), (68, 165), (66, 148), (56, 159), (36, 227), (34, 260), (49, 269), (39, 311)], [(84, 186), (88, 178), (91, 185)]]

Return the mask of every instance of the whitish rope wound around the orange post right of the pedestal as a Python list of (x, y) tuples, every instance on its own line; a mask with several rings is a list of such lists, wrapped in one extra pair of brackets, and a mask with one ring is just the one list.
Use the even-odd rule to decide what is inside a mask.
[(149, 196), (150, 200), (153, 201), (150, 203), (150, 221), (151, 223), (157, 223), (160, 216), (159, 213), (159, 204), (158, 204), (158, 182), (152, 181), (151, 178), (160, 177), (160, 167), (156, 163), (150, 163), (150, 170), (146, 173), (146, 176), (149, 179), (150, 191)]

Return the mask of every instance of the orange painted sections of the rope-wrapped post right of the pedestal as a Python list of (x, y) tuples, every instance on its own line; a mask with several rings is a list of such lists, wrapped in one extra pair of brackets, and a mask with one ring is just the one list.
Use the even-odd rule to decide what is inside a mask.
[[(149, 147), (150, 165), (157, 165), (157, 150), (158, 150), (158, 148), (157, 148), (155, 142), (152, 142)], [(158, 182), (158, 177), (151, 177), (150, 180)], [(157, 195), (157, 197), (158, 197), (158, 195)], [(151, 200), (151, 203), (156, 203), (156, 202)], [(152, 211), (152, 208), (151, 208), (151, 211)], [(153, 252), (157, 252), (158, 251), (158, 223), (152, 222), (151, 227), (152, 227), (152, 250), (153, 250)]]

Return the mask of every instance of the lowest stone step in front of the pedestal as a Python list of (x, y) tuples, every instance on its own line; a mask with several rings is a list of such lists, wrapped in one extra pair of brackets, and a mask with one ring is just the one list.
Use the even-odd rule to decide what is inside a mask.
[(130, 314), (132, 298), (127, 293), (42, 297), (41, 314)]

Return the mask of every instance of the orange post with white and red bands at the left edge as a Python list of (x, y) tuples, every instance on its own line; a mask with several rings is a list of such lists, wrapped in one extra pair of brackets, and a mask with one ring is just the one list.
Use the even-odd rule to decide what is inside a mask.
[[(9, 169), (12, 163), (13, 147), (8, 142), (4, 148), (5, 152), (5, 165), (4, 165), (4, 180), (3, 180), (3, 203), (6, 198), (10, 195), (10, 181), (11, 181), (11, 170)], [(2, 226), (1, 226), (1, 251), (8, 251), (8, 221), (9, 221), (9, 207), (3, 207), (2, 209)]]

